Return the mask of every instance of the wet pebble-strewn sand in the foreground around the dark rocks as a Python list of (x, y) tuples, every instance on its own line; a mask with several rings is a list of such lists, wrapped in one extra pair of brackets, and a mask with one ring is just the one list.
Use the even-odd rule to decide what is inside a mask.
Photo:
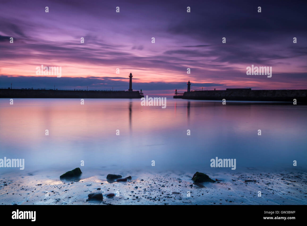
[[(113, 183), (106, 180), (108, 173), (113, 172), (81, 176), (79, 181), (49, 179), (35, 172), (7, 178), (2, 175), (0, 204), (307, 204), (307, 172), (304, 170), (207, 173), (213, 180), (221, 181), (201, 184), (193, 184), (194, 171), (130, 171), (121, 175), (123, 178), (132, 176), (132, 180)], [(87, 200), (91, 192), (102, 192), (103, 201)], [(115, 196), (107, 197), (108, 193)]]

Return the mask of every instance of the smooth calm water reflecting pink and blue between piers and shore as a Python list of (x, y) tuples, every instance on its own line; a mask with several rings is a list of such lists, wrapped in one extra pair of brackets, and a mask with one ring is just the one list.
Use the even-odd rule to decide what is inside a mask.
[(160, 170), (212, 170), (215, 157), (236, 159), (237, 169), (286, 169), (293, 160), (306, 168), (306, 106), (172, 98), (166, 104), (162, 109), (136, 99), (85, 99), (81, 105), (79, 99), (15, 98), (10, 105), (0, 99), (0, 158), (24, 158), (23, 172), (66, 171), (81, 160), (95, 169), (145, 169), (154, 160)]

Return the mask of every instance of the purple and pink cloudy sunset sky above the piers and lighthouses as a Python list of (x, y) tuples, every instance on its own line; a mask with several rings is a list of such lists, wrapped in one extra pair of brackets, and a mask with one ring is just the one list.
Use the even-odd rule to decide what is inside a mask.
[[(0, 87), (128, 90), (131, 72), (132, 89), (151, 95), (186, 91), (188, 81), (192, 90), (306, 89), (306, 6), (306, 1), (1, 1)], [(41, 65), (61, 67), (61, 77), (37, 75)], [(272, 67), (272, 77), (247, 75), (251, 65)]]

